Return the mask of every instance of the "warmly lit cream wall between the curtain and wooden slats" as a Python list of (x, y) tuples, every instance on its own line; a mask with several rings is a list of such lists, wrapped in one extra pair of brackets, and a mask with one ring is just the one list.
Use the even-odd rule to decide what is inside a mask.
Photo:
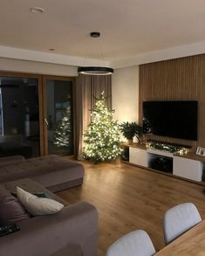
[(114, 119), (138, 121), (139, 119), (139, 66), (114, 70), (112, 78)]

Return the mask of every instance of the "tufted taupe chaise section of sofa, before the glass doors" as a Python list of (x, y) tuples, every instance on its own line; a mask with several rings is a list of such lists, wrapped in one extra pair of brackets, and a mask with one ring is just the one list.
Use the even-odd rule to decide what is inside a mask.
[(61, 156), (0, 157), (0, 183), (31, 177), (51, 191), (65, 190), (83, 183), (84, 166)]

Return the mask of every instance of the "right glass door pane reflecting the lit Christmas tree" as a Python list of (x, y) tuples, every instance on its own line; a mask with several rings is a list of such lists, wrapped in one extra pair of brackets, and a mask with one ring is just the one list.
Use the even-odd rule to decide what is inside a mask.
[(46, 79), (47, 153), (73, 154), (72, 80)]

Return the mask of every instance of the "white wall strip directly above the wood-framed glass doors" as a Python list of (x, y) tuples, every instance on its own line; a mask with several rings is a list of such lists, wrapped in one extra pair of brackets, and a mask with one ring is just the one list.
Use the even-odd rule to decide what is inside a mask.
[(50, 64), (37, 61), (0, 58), (0, 71), (77, 76), (77, 66)]

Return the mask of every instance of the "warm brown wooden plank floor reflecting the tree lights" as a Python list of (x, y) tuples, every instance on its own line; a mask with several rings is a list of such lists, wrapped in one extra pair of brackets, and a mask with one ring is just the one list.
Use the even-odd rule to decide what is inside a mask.
[(82, 162), (83, 186), (58, 192), (71, 204), (85, 200), (99, 211), (99, 256), (127, 232), (148, 232), (156, 250), (163, 246), (162, 218), (175, 204), (192, 202), (205, 218), (202, 185), (140, 169), (126, 163)]

